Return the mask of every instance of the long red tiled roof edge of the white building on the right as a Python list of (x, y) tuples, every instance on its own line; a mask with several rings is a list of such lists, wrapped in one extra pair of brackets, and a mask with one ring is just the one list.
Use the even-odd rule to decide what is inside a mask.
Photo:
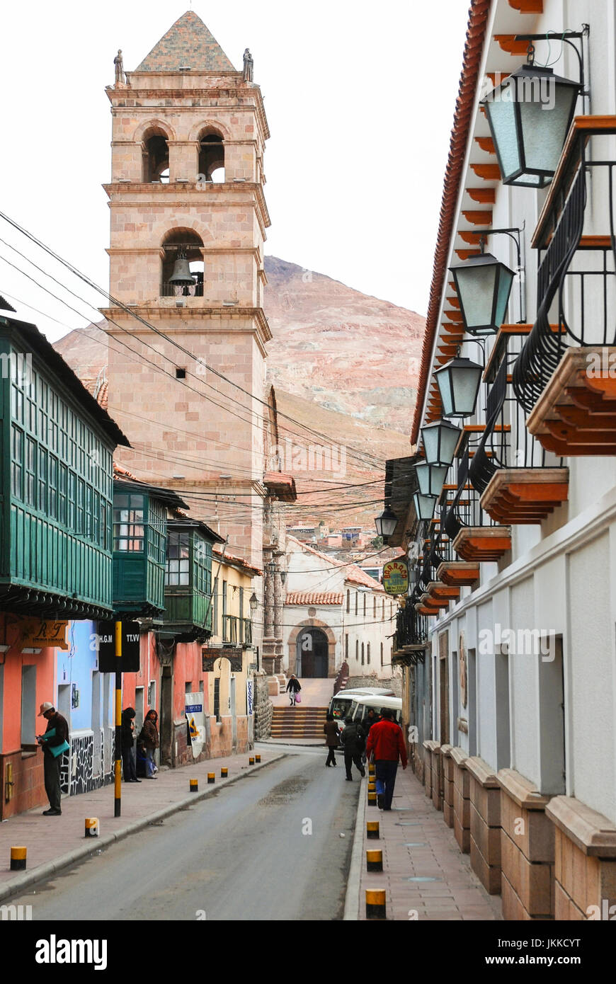
[(434, 337), (437, 331), (437, 319), (441, 308), (441, 296), (443, 293), (443, 283), (446, 274), (446, 264), (449, 257), (454, 218), (456, 215), (456, 205), (460, 194), (460, 182), (462, 180), (462, 168), (468, 139), (468, 127), (471, 122), (472, 107), (474, 104), (475, 92), (477, 89), (479, 66), (481, 64), (481, 53), (485, 31), (490, 14), (492, 0), (472, 0), (468, 11), (468, 28), (466, 30), (466, 41), (464, 44), (464, 54), (462, 58), (462, 75), (460, 77), (460, 91), (456, 100), (456, 112), (454, 113), (454, 127), (450, 142), (449, 158), (445, 169), (445, 184), (443, 187), (443, 199), (441, 202), (441, 215), (439, 219), (439, 230), (437, 234), (437, 246), (434, 254), (434, 266), (432, 271), (432, 285), (430, 287), (430, 301), (428, 303), (428, 314), (426, 317), (426, 327), (423, 336), (423, 347), (421, 351), (421, 365), (419, 368), (419, 381), (417, 383), (417, 401), (415, 403), (415, 413), (413, 416), (412, 430), (410, 432), (410, 443), (417, 443), (419, 424), (423, 410), (423, 398), (426, 387), (429, 383), (428, 373), (432, 360), (432, 348)]

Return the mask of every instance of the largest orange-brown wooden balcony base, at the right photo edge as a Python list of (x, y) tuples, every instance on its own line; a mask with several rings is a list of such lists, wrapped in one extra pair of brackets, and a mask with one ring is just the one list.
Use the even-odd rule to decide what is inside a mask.
[(562, 458), (616, 455), (616, 346), (569, 348), (526, 426)]

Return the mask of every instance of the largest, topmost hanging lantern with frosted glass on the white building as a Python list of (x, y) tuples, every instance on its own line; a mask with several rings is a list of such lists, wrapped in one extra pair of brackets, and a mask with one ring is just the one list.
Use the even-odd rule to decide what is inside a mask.
[(528, 62), (481, 105), (485, 107), (503, 184), (544, 188), (554, 177), (582, 87)]

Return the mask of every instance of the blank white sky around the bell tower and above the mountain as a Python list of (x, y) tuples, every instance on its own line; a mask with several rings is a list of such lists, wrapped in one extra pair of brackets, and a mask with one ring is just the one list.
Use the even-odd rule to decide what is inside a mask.
[[(125, 69), (136, 68), (187, 4), (3, 5), (0, 211), (102, 287), (113, 57), (121, 47)], [(246, 46), (255, 61), (272, 131), (266, 253), (425, 314), (468, 0), (194, 0), (193, 9), (236, 68)], [(3, 219), (0, 238), (104, 304)], [(2, 242), (0, 256), (40, 276)], [(67, 310), (4, 261), (0, 293), (66, 326), (20, 308), (52, 340), (94, 316), (62, 292), (80, 314)]]

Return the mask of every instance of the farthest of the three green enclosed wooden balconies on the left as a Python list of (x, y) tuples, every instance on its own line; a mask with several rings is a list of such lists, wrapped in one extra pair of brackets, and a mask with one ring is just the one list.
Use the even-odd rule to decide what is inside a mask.
[(212, 547), (224, 540), (205, 523), (168, 523), (163, 635), (178, 643), (212, 635)]

